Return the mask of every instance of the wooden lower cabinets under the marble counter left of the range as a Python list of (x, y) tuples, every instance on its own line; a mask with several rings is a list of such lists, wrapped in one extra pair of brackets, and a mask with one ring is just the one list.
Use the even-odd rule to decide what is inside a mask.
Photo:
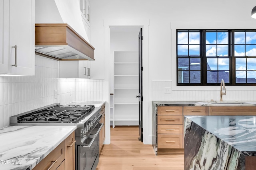
[(41, 160), (33, 170), (75, 170), (75, 132)]

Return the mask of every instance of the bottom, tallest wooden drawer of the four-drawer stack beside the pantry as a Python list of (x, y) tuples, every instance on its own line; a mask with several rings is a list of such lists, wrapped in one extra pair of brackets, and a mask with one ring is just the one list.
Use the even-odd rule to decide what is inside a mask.
[(180, 149), (183, 147), (183, 137), (180, 135), (159, 134), (157, 139), (159, 149)]

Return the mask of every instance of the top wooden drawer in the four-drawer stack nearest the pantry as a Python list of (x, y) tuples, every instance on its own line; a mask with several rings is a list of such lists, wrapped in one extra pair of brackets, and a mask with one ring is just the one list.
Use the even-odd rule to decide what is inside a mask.
[(158, 106), (157, 115), (182, 115), (182, 106)]

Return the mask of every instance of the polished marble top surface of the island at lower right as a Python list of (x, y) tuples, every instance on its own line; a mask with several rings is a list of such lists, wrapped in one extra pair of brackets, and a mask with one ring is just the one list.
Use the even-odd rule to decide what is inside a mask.
[(256, 152), (256, 116), (186, 117), (240, 152)]

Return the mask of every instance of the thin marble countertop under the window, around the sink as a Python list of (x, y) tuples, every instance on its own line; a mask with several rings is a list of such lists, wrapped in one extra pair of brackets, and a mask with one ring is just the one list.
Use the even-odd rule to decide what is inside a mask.
[(256, 101), (152, 101), (154, 106), (256, 106)]

